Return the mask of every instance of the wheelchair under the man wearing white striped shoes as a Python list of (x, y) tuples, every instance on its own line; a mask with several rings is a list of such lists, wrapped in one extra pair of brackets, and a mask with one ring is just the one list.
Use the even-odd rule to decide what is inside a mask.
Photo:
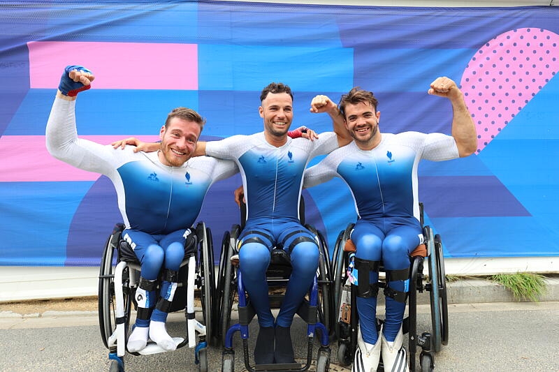
[[(421, 211), (421, 226), (423, 226), (423, 239), (425, 246), (418, 246), (410, 253), (409, 267), (409, 298), (408, 316), (402, 323), (402, 332), (409, 334), (409, 369), (416, 371), (417, 347), (421, 346), (419, 362), (422, 372), (435, 369), (433, 352), (440, 352), (442, 345), (449, 341), (449, 313), (447, 301), (447, 285), (444, 274), (444, 257), (442, 255), (442, 242), (440, 235), (434, 235), (433, 229), (424, 226), (423, 204), (419, 203)], [(343, 366), (349, 366), (354, 361), (357, 348), (358, 312), (356, 310), (357, 288), (349, 283), (347, 267), (354, 259), (354, 252), (346, 248), (354, 224), (340, 232), (334, 248), (333, 276), (334, 276), (334, 304), (339, 309), (337, 320), (334, 324), (335, 335), (338, 338), (337, 359)], [(428, 278), (423, 275), (423, 265), (427, 261)], [(381, 262), (380, 271), (384, 271)], [(424, 283), (425, 282), (425, 283)], [(386, 283), (379, 280), (379, 288), (386, 288)], [(429, 292), (431, 329), (430, 332), (417, 334), (416, 322), (416, 292)], [(382, 320), (381, 320), (382, 321)], [(382, 360), (378, 371), (384, 371)]]

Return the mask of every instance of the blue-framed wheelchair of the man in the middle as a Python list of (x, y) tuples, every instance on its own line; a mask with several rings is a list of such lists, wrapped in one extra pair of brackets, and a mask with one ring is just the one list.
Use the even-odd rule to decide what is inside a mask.
[[(304, 216), (303, 198), (300, 202), (300, 216)], [(242, 283), (240, 269), (238, 269), (238, 248), (237, 242), (244, 221), (246, 220), (246, 206), (241, 206), (241, 225), (233, 225), (231, 231), (224, 233), (222, 242), (221, 257), (219, 260), (219, 271), (217, 276), (217, 306), (216, 317), (219, 319), (217, 337), (224, 347), (222, 353), (222, 372), (233, 372), (235, 362), (235, 352), (233, 350), (233, 335), (240, 332), (242, 338), (242, 352), (244, 355), (245, 369), (249, 372), (254, 371), (307, 371), (312, 363), (312, 349), (314, 335), (319, 331), (319, 347), (317, 353), (317, 372), (326, 372), (330, 365), (331, 350), (329, 348), (328, 329), (331, 329), (333, 315), (331, 310), (333, 299), (331, 297), (331, 262), (328, 253), (326, 239), (318, 230), (310, 225), (305, 225), (304, 217), (301, 224), (312, 232), (319, 246), (319, 267), (317, 275), (309, 289), (308, 299), (303, 300), (299, 306), (297, 314), (307, 323), (307, 359), (304, 365), (293, 364), (261, 364), (250, 365), (249, 362), (249, 328), (248, 325), (256, 314), (250, 303), (250, 299), (245, 292)], [(266, 271), (268, 287), (286, 287), (291, 275), (291, 258), (281, 247), (275, 247), (270, 252), (270, 265)], [(238, 324), (231, 325), (231, 311), (233, 310), (233, 300), (235, 292), (238, 295)], [(269, 294), (270, 308), (279, 308), (283, 295)]]

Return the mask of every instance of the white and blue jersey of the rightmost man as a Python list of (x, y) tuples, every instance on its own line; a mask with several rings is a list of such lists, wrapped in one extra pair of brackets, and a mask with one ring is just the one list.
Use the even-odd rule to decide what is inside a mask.
[(304, 187), (340, 177), (349, 186), (359, 218), (419, 220), (417, 167), (421, 159), (444, 161), (458, 158), (454, 138), (442, 133), (382, 133), (372, 150), (355, 142), (340, 147), (305, 172)]

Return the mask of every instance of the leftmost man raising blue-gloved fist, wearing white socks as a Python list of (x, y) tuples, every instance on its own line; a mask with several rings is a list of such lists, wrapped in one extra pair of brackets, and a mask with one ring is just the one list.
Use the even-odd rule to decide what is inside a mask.
[[(142, 350), (148, 337), (164, 350), (175, 350), (165, 322), (177, 288), (177, 271), (185, 255), (189, 228), (211, 184), (230, 177), (238, 168), (231, 161), (208, 156), (191, 158), (205, 120), (185, 107), (168, 114), (159, 131), (158, 152), (135, 152), (132, 147), (120, 151), (79, 139), (75, 99), (78, 92), (91, 87), (93, 80), (87, 68), (66, 67), (48, 119), (47, 148), (55, 158), (82, 170), (105, 174), (115, 185), (126, 227), (122, 236), (141, 264), (136, 327), (129, 337), (128, 350)], [(162, 267), (158, 299), (157, 278)]]

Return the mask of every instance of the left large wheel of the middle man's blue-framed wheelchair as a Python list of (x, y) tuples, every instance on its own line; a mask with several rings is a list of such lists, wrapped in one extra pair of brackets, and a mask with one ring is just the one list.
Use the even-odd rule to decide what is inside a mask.
[[(235, 268), (233, 267), (233, 264), (231, 264), (231, 257), (235, 254), (235, 250), (231, 245), (231, 241), (236, 240), (239, 232), (240, 227), (238, 225), (233, 226), (233, 236), (229, 235), (227, 232), (224, 236), (222, 245), (222, 258), (220, 261), (223, 262), (224, 274), (222, 278), (222, 287), (219, 288), (222, 290), (222, 306), (219, 308), (219, 311), (221, 312), (219, 317), (219, 336), (222, 346), (225, 346), (225, 338), (229, 326), (231, 325), (231, 311), (233, 309), (233, 297), (235, 296), (235, 288), (233, 287), (235, 281)], [(232, 368), (233, 364), (231, 364), (231, 371), (233, 371)]]

